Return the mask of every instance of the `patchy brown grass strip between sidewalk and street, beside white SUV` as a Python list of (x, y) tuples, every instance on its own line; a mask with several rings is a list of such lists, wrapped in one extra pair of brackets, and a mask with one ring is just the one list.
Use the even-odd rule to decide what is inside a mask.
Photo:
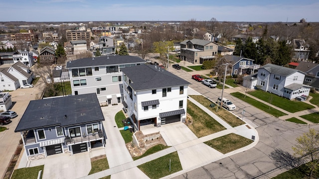
[(212, 111), (214, 114), (222, 118), (224, 121), (226, 121), (229, 125), (232, 127), (240, 126), (245, 124), (244, 121), (238, 119), (236, 116), (232, 115), (230, 112), (228, 112), (226, 109), (217, 110), (214, 107), (210, 107), (209, 105), (212, 103), (209, 99), (202, 95), (189, 95), (191, 98), (195, 99), (199, 103), (201, 103), (203, 106), (205, 106), (207, 109)]

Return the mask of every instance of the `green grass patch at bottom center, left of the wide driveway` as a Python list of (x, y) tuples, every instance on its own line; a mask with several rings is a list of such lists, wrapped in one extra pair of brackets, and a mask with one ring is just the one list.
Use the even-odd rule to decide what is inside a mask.
[[(169, 160), (171, 161), (170, 172)], [(138, 168), (151, 179), (160, 179), (182, 170), (177, 152), (167, 154), (163, 157), (142, 164), (138, 166)]]

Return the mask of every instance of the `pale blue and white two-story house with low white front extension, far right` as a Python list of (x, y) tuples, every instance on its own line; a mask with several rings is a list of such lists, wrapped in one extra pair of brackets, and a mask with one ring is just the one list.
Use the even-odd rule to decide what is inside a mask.
[(258, 69), (257, 85), (262, 90), (294, 99), (309, 95), (310, 87), (303, 84), (305, 75), (299, 70), (267, 64)]

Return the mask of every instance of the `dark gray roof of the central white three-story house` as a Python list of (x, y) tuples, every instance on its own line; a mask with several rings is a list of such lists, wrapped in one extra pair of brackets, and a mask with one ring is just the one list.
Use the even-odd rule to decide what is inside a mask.
[(122, 68), (121, 71), (133, 82), (130, 86), (134, 90), (158, 89), (190, 84), (156, 65), (137, 65), (130, 68)]

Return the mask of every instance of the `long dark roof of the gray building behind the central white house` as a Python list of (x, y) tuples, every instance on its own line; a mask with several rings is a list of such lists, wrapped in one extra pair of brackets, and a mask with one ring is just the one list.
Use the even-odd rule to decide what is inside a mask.
[(121, 55), (109, 55), (100, 56), (94, 58), (82, 58), (66, 63), (66, 68), (78, 68), (78, 67), (96, 67), (103, 65), (120, 65), (130, 63), (146, 63), (145, 60), (135, 56), (121, 56)]

